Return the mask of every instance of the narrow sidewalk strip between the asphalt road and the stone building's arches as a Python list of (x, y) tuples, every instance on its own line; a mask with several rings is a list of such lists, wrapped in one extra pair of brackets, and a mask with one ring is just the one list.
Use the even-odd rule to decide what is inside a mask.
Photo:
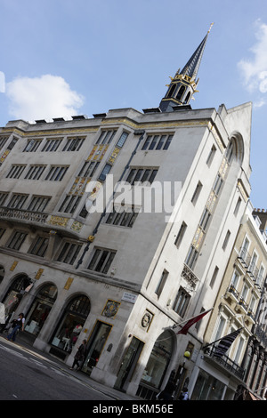
[[(4, 340), (4, 342), (7, 342), (6, 334), (0, 334), (0, 341), (2, 339)], [(100, 382), (96, 382), (91, 377), (89, 377), (88, 374), (85, 374), (83, 372), (77, 372), (76, 370), (70, 370), (69, 366), (63, 363), (59, 358), (56, 358), (53, 355), (44, 351), (37, 350), (35, 347), (32, 347), (30, 344), (25, 342), (23, 338), (20, 337), (20, 335), (17, 336), (16, 342), (10, 343), (14, 347), (19, 348), (20, 350), (28, 351), (28, 353), (31, 353), (37, 356), (38, 358), (53, 364), (53, 366), (58, 367), (64, 373), (68, 373), (70, 375), (75, 376), (76, 379), (80, 380), (81, 382), (84, 382), (88, 387), (93, 388), (94, 390), (99, 390), (101, 393), (109, 396), (110, 400), (142, 400), (140, 398), (121, 392), (120, 390), (109, 388), (108, 386)]]

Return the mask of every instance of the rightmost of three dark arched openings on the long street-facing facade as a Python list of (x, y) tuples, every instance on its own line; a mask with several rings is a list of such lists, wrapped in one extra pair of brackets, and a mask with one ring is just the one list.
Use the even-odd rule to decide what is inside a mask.
[(58, 322), (51, 344), (54, 355), (65, 358), (71, 352), (90, 313), (90, 300), (84, 294), (72, 298), (64, 309)]

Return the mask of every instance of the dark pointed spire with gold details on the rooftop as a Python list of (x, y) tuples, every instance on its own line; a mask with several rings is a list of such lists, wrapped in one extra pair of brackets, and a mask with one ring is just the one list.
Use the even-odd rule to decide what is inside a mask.
[(187, 105), (194, 92), (198, 92), (198, 80), (196, 80), (198, 68), (206, 46), (206, 39), (212, 26), (213, 23), (210, 25), (203, 41), (198, 45), (198, 48), (190, 57), (190, 60), (188, 60), (182, 68), (182, 71), (180, 71), (179, 68), (174, 78), (170, 77), (171, 84), (168, 84), (166, 95), (159, 105), (162, 112), (172, 112), (176, 106)]

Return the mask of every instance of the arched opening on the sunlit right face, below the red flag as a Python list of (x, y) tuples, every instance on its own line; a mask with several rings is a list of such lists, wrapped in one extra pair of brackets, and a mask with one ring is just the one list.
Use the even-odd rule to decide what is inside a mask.
[(149, 361), (144, 369), (137, 396), (154, 398), (163, 382), (167, 367), (174, 351), (174, 333), (164, 331), (160, 334), (151, 351)]

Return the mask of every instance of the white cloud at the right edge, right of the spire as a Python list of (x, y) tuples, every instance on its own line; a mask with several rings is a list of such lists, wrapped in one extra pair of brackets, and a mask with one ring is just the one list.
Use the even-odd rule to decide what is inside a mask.
[(243, 59), (238, 67), (249, 92), (267, 92), (267, 25), (261, 20), (255, 22), (256, 43), (250, 51), (251, 59)]

